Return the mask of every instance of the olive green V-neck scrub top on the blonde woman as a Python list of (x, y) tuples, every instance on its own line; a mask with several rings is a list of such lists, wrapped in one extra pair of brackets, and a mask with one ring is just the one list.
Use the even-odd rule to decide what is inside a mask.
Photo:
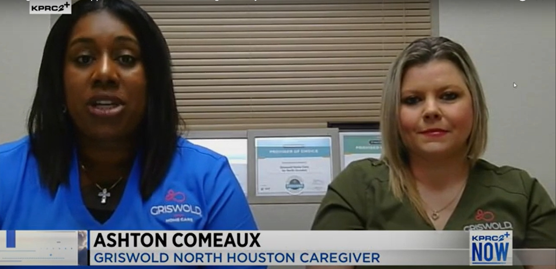
[[(388, 175), (381, 160), (364, 159), (348, 165), (329, 185), (312, 230), (434, 230), (409, 200), (394, 197)], [(556, 209), (539, 181), (524, 170), (479, 160), (444, 230), (513, 230), (514, 249), (556, 248)], [(468, 266), (436, 268), (461, 267)], [(492, 268), (473, 266), (483, 267)]]

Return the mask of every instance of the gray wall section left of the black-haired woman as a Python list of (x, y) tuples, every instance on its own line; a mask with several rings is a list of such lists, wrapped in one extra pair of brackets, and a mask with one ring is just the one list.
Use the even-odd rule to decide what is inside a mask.
[(37, 86), (49, 15), (30, 15), (29, 2), (0, 2), (0, 143), (25, 132)]

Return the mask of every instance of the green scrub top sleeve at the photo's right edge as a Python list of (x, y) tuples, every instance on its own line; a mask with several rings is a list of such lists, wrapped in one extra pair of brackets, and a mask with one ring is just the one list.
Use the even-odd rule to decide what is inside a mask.
[[(529, 177), (528, 175), (525, 175)], [(529, 177), (530, 179), (530, 177)], [(528, 187), (525, 248), (556, 248), (556, 209), (548, 192), (537, 179)]]

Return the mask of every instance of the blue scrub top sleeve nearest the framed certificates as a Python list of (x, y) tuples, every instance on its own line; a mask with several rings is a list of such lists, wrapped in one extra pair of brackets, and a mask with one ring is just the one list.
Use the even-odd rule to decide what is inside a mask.
[[(209, 215), (205, 230), (256, 231), (255, 218), (230, 163), (222, 157), (205, 181)], [(266, 269), (267, 266), (203, 266), (206, 269)]]

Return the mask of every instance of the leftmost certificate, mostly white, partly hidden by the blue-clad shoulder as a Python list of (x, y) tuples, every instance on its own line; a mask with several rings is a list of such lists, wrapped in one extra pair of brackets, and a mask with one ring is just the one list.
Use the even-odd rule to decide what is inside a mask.
[(232, 172), (241, 185), (244, 194), (247, 195), (247, 139), (190, 139), (191, 143), (204, 146), (216, 153), (226, 156)]

